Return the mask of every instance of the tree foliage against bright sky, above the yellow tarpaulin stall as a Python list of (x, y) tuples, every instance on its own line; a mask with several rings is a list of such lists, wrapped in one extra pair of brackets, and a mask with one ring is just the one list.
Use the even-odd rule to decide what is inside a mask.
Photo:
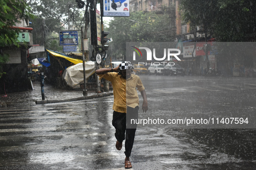
[(52, 36), (52, 32), (58, 33), (68, 29), (68, 22), (71, 30), (79, 29), (84, 24), (84, 12), (75, 1), (71, 3), (70, 0), (28, 0), (28, 4), (37, 16), (31, 25), (33, 42), (45, 45), (45, 48), (51, 48), (50, 45), (58, 40)]

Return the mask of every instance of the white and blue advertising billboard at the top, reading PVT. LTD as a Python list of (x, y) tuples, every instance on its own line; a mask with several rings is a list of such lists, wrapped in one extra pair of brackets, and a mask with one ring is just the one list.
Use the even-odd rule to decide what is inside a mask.
[(129, 0), (103, 0), (103, 16), (130, 16)]

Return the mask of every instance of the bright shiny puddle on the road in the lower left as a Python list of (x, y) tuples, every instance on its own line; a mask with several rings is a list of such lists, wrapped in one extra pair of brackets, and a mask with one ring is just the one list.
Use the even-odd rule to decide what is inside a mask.
[(74, 160), (74, 155), (71, 153), (38, 153), (32, 154), (30, 157), (31, 162), (42, 164), (56, 164), (72, 160)]

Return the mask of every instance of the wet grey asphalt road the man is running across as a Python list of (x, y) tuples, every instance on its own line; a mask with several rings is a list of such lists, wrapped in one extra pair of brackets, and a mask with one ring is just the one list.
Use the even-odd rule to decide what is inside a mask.
[[(247, 129), (236, 128), (241, 124), (139, 124), (130, 157), (134, 170), (256, 168), (256, 130), (248, 129), (255, 125), (255, 79), (154, 75), (141, 79), (149, 111), (140, 110), (139, 119), (235, 115), (249, 116), (252, 123), (242, 124)], [(0, 108), (0, 169), (124, 169), (124, 149), (115, 149), (112, 104), (110, 96)]]

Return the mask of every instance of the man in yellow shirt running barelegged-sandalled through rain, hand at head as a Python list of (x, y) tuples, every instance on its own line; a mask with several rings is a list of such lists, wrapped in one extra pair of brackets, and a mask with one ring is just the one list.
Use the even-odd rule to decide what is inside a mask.
[[(114, 104), (112, 125), (115, 127), (117, 139), (116, 148), (121, 150), (125, 139), (125, 169), (132, 168), (130, 155), (136, 132), (136, 124), (130, 124), (130, 119), (138, 118), (139, 96), (136, 88), (143, 97), (143, 113), (148, 110), (148, 101), (145, 88), (139, 76), (132, 74), (133, 65), (130, 61), (124, 61), (113, 69), (97, 69), (96, 74), (100, 79), (104, 78), (113, 85)], [(127, 120), (127, 124), (126, 124)]]

